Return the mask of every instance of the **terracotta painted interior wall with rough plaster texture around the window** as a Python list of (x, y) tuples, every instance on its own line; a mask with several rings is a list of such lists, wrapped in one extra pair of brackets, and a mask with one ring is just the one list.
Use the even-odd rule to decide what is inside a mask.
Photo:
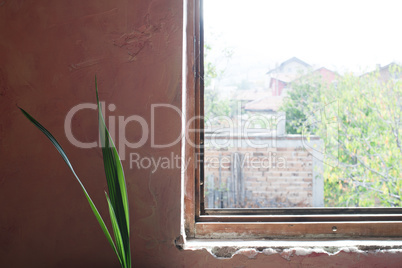
[[(64, 162), (17, 109), (39, 119), (59, 139), (89, 193), (107, 215), (106, 183), (99, 149), (73, 146), (64, 133), (68, 111), (100, 98), (116, 105), (108, 115), (139, 115), (148, 122), (151, 104), (181, 107), (182, 1), (0, 2), (0, 266), (118, 267), (79, 185)], [(73, 118), (81, 141), (97, 138), (94, 110)], [(156, 142), (173, 141), (180, 120), (156, 113)], [(126, 128), (138, 141), (138, 123)], [(180, 144), (139, 149), (146, 157), (180, 154)], [(205, 250), (179, 251), (180, 170), (130, 168), (123, 162), (130, 195), (135, 267), (397, 267), (400, 254), (340, 253), (291, 257), (259, 254), (218, 260)]]

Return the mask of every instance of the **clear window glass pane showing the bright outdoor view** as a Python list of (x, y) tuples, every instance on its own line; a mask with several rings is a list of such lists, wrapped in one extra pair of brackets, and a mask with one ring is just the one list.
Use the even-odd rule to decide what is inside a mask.
[(401, 207), (400, 2), (204, 0), (205, 207)]

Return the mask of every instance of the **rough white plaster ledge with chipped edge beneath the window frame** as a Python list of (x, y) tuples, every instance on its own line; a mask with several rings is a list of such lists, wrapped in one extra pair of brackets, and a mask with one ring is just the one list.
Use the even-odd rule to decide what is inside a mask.
[(184, 250), (205, 249), (215, 258), (230, 259), (245, 255), (250, 259), (258, 254), (279, 254), (290, 260), (293, 256), (336, 255), (340, 252), (359, 254), (402, 253), (402, 240), (336, 240), (336, 241), (272, 241), (272, 240), (215, 240), (189, 239)]

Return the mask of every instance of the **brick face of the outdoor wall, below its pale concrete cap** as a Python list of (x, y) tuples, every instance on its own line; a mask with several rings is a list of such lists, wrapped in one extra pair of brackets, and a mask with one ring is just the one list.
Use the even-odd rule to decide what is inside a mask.
[[(223, 192), (232, 190), (230, 183), (233, 183), (231, 180), (235, 172), (234, 153), (244, 156), (244, 160), (240, 161), (244, 200), (240, 200), (240, 205), (227, 204), (228, 207), (313, 206), (313, 156), (301, 146), (207, 148), (206, 195), (211, 194), (212, 189)], [(223, 195), (224, 199), (230, 198), (226, 197), (227, 194)], [(220, 197), (214, 200), (215, 205), (206, 198), (207, 207), (220, 207)]]

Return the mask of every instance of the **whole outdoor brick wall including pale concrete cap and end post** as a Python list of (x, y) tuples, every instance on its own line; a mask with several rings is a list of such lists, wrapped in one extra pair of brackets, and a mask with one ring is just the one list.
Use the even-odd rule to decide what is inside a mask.
[[(206, 137), (206, 144), (211, 139)], [(265, 148), (255, 148), (264, 142)], [(249, 143), (238, 137), (236, 146), (207, 145), (206, 207), (322, 206), (322, 162), (305, 142), (299, 135), (254, 136)], [(320, 140), (312, 138), (309, 143), (320, 144)]]

